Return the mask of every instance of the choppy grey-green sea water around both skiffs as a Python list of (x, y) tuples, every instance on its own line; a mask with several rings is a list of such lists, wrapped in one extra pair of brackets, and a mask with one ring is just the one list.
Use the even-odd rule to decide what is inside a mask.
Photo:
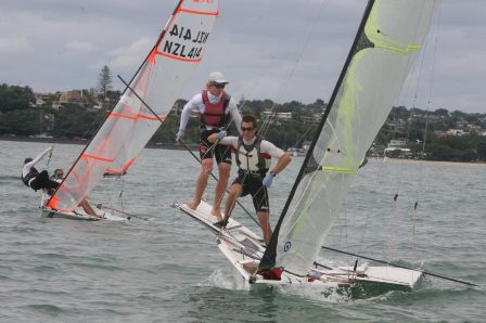
[[(269, 288), (243, 282), (215, 235), (170, 207), (194, 192), (200, 166), (189, 153), (144, 150), (126, 177), (90, 194), (145, 220), (82, 222), (41, 220), (39, 192), (18, 179), (24, 158), (46, 146), (0, 141), (0, 322), (486, 321), (484, 165), (370, 160), (325, 241), (482, 287), (427, 276), (414, 292)], [(66, 171), (81, 148), (56, 144), (38, 168)], [(272, 225), (302, 162), (269, 190)], [(259, 233), (241, 209), (233, 217)], [(356, 257), (323, 251), (320, 260), (353, 266)]]

